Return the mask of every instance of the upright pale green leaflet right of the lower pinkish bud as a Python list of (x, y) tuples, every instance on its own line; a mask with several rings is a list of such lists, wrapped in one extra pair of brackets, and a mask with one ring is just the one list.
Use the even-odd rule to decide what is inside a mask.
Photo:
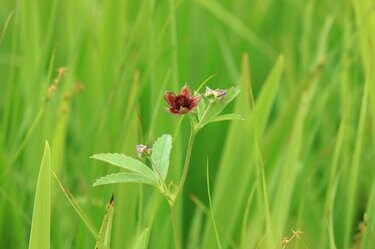
[(158, 171), (161, 174), (162, 180), (165, 180), (165, 177), (168, 174), (169, 168), (169, 156), (172, 150), (172, 136), (163, 135), (156, 140), (152, 146), (151, 159), (152, 163), (155, 163)]

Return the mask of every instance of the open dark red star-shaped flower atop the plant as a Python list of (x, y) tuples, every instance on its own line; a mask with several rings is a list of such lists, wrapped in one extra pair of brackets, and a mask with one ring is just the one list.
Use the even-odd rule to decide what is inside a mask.
[(179, 95), (166, 92), (164, 98), (169, 105), (168, 111), (180, 115), (191, 112), (198, 105), (201, 96), (191, 96), (189, 87), (184, 86)]

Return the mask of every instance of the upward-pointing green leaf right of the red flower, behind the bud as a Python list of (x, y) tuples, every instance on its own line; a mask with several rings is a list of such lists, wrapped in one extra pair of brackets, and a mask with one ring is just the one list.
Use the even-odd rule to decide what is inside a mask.
[(223, 109), (240, 93), (240, 90), (236, 87), (228, 89), (224, 100), (214, 99), (207, 106), (201, 120), (199, 121), (200, 127), (203, 127), (207, 123), (211, 122), (212, 119), (216, 118)]

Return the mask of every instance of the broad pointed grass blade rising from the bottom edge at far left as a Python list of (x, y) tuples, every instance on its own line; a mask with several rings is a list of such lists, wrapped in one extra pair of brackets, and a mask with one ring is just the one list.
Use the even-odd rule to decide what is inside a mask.
[(36, 185), (29, 249), (50, 248), (51, 152), (46, 142)]

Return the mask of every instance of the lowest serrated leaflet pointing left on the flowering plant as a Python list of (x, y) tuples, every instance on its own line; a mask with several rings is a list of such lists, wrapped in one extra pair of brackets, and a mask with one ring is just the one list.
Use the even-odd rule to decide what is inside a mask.
[(114, 183), (144, 183), (155, 187), (159, 186), (159, 182), (155, 179), (152, 180), (148, 177), (140, 175), (138, 173), (116, 173), (111, 175), (103, 176), (94, 182), (94, 186), (107, 185)]

